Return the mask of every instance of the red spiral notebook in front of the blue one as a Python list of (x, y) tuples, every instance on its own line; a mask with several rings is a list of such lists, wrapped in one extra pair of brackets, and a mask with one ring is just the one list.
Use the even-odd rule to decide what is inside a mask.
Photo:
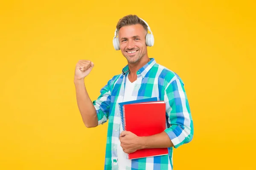
[[(166, 129), (166, 105), (164, 101), (123, 105), (124, 130), (137, 136), (162, 133)], [(128, 159), (167, 155), (167, 148), (150, 148), (128, 153)]]

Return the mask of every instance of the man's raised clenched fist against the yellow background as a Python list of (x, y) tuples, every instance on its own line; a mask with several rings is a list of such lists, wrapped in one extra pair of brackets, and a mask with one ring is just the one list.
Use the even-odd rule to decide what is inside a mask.
[(93, 62), (89, 60), (79, 60), (76, 64), (75, 78), (80, 80), (85, 78), (93, 69)]

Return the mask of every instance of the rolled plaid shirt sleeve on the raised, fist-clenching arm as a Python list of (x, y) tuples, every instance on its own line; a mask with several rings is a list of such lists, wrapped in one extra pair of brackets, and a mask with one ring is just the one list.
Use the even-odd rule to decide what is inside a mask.
[(110, 81), (100, 90), (99, 97), (95, 101), (93, 101), (93, 105), (96, 109), (98, 117), (98, 125), (104, 124), (108, 121), (111, 105), (111, 89), (109, 86)]

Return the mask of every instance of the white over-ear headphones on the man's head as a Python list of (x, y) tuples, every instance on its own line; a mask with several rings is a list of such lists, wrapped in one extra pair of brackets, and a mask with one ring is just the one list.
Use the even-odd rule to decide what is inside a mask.
[[(141, 20), (143, 20), (143, 19), (141, 19)], [(148, 23), (146, 23), (145, 20), (143, 20), (143, 22), (148, 26)], [(154, 45), (154, 35), (151, 32), (151, 29), (150, 29), (149, 26), (148, 26), (148, 31), (150, 32), (150, 34), (147, 33), (147, 35), (146, 35), (146, 45), (147, 46), (153, 46)], [(113, 38), (113, 46), (114, 46), (115, 50), (119, 50), (120, 49), (119, 39), (116, 36), (117, 36), (117, 29), (115, 31), (115, 36)]]

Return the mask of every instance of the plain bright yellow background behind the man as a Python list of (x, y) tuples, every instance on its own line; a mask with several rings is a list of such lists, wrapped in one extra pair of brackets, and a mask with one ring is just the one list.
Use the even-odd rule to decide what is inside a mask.
[(0, 4), (0, 169), (102, 170), (107, 124), (87, 129), (74, 69), (92, 100), (127, 61), (112, 45), (119, 18), (137, 14), (155, 37), (149, 57), (185, 82), (195, 135), (175, 170), (253, 170), (256, 20), (253, 0), (18, 1)]

